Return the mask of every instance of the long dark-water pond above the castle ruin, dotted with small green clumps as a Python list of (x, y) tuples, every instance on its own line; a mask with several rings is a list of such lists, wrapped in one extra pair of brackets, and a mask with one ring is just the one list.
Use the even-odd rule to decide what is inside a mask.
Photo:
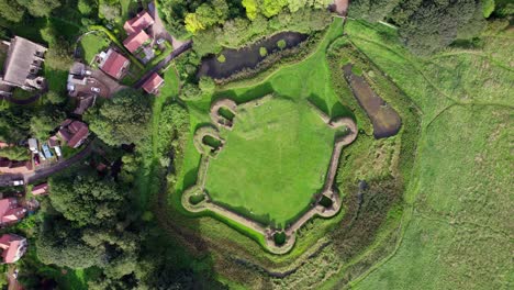
[[(308, 34), (299, 32), (281, 32), (239, 49), (225, 48), (220, 54), (224, 56), (224, 62), (219, 60), (220, 55), (210, 55), (203, 58), (198, 77), (208, 76), (214, 79), (224, 79), (243, 69), (254, 69), (267, 56), (280, 49), (294, 47), (308, 37)], [(284, 41), (286, 45), (279, 47), (279, 41)], [(261, 47), (266, 48), (266, 55), (262, 54)]]

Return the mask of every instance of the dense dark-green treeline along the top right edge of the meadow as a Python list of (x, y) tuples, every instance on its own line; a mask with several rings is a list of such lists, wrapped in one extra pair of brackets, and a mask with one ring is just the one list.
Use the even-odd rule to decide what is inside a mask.
[(431, 54), (456, 40), (470, 40), (485, 27), (485, 18), (498, 12), (505, 16), (513, 12), (512, 3), (494, 7), (487, 0), (355, 0), (349, 16), (370, 22), (388, 21), (399, 26), (405, 45), (416, 54)]

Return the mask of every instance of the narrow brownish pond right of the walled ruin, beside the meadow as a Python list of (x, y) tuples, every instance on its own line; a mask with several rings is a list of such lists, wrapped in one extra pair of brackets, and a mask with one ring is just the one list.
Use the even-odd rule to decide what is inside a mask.
[(358, 72), (361, 72), (359, 69), (347, 64), (343, 67), (343, 71), (355, 98), (371, 120), (373, 136), (384, 138), (396, 135), (402, 126), (402, 120), (396, 111), (373, 91), (364, 77), (359, 76)]

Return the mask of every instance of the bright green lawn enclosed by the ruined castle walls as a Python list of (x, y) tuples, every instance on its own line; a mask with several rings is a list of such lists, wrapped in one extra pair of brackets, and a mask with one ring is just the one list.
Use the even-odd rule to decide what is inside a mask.
[(283, 227), (323, 187), (334, 131), (303, 99), (275, 98), (247, 108), (209, 166), (213, 201), (264, 224)]

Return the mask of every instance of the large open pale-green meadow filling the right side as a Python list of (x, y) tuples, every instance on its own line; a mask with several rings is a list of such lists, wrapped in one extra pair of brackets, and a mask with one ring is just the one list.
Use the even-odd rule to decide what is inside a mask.
[(409, 54), (388, 27), (349, 22), (347, 32), (423, 111), (418, 170), (405, 194), (412, 217), (393, 255), (353, 285), (507, 288), (512, 30), (490, 23), (483, 47), (425, 59)]

